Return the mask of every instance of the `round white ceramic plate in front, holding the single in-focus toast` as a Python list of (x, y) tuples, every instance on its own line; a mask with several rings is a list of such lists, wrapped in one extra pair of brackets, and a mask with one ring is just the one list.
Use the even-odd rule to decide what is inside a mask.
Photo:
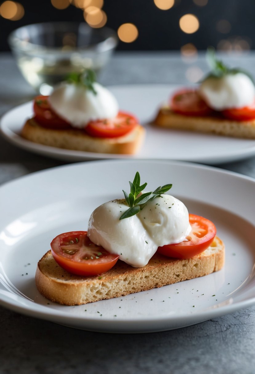
[[(68, 307), (36, 289), (37, 261), (65, 231), (86, 230), (96, 206), (122, 197), (136, 171), (190, 212), (211, 219), (226, 246), (224, 269), (151, 291)], [(255, 180), (170, 161), (78, 163), (37, 172), (0, 188), (0, 303), (16, 312), (93, 331), (152, 332), (196, 324), (255, 303)]]

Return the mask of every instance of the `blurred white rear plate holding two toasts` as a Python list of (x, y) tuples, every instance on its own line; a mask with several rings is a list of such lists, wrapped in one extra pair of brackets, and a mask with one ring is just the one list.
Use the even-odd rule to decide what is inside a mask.
[(176, 86), (130, 85), (113, 86), (120, 108), (135, 113), (145, 126), (147, 135), (141, 151), (135, 156), (64, 150), (36, 144), (20, 137), (26, 119), (32, 116), (31, 102), (9, 111), (1, 119), (1, 132), (7, 140), (26, 150), (67, 161), (95, 159), (168, 159), (216, 164), (244, 159), (255, 154), (255, 140), (217, 135), (169, 131), (149, 125), (160, 103), (166, 102)]

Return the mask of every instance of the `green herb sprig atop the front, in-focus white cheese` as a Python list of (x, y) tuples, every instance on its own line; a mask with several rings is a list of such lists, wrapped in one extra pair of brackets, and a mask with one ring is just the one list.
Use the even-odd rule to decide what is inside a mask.
[(142, 210), (144, 205), (150, 201), (155, 199), (155, 197), (161, 195), (162, 193), (165, 193), (166, 191), (170, 190), (172, 187), (172, 184), (165, 184), (165, 186), (159, 186), (156, 188), (153, 192), (141, 192), (144, 190), (144, 188), (147, 186), (147, 183), (142, 184), (140, 186), (140, 174), (136, 172), (135, 178), (133, 182), (130, 182), (130, 193), (127, 194), (126, 191), (123, 190), (126, 202), (128, 206), (130, 206), (129, 209), (127, 209), (126, 212), (122, 214), (120, 217), (120, 220), (123, 220), (123, 218), (131, 217), (132, 215), (137, 214), (139, 211)]

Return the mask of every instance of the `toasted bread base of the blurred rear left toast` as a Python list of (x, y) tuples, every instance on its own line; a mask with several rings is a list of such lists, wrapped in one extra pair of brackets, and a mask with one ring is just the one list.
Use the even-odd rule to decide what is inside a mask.
[(47, 129), (40, 126), (34, 119), (27, 120), (21, 131), (23, 138), (50, 147), (117, 154), (136, 153), (141, 147), (144, 135), (144, 128), (138, 125), (122, 137), (96, 138), (78, 129)]

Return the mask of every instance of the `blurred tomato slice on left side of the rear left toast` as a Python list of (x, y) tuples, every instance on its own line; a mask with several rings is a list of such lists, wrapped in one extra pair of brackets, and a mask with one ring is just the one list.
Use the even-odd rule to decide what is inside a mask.
[(49, 96), (36, 96), (34, 99), (34, 119), (39, 125), (51, 129), (69, 129), (70, 123), (56, 114), (49, 105)]

